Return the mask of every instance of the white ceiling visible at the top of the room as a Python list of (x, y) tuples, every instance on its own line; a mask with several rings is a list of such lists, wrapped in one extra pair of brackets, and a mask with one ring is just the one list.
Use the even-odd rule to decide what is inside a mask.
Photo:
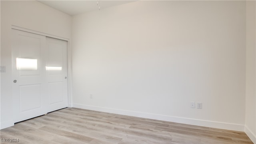
[(99, 10), (97, 2), (100, 2), (100, 9), (108, 8), (134, 2), (135, 0), (37, 0), (56, 10), (60, 10), (70, 16), (88, 11)]

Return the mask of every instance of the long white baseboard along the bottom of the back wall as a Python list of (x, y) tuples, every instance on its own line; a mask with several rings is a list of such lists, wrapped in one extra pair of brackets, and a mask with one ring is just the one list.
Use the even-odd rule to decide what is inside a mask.
[(176, 116), (166, 116), (166, 115), (150, 114), (150, 113), (144, 113), (144, 112), (134, 112), (134, 111), (128, 111), (128, 110), (119, 110), (119, 109), (89, 106), (89, 105), (83, 105), (83, 104), (73, 104), (73, 107), (87, 109), (87, 110), (96, 110), (100, 112), (122, 114), (126, 116), (136, 116), (140, 118), (164, 120), (168, 122), (177, 122), (182, 124), (191, 124), (196, 126), (206, 126), (211, 128), (220, 128), (220, 129), (236, 130), (236, 131), (244, 132), (244, 125), (242, 124), (231, 124), (231, 123), (224, 123), (224, 122), (214, 122), (209, 120), (198, 120), (198, 119), (192, 119), (192, 118), (182, 118), (182, 117), (176, 117)]

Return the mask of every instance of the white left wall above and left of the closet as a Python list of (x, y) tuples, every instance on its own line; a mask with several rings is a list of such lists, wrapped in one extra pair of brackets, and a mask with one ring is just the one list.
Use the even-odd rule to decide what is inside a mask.
[(71, 16), (36, 1), (1, 0), (1, 128), (12, 122), (11, 26), (52, 34), (71, 36)]

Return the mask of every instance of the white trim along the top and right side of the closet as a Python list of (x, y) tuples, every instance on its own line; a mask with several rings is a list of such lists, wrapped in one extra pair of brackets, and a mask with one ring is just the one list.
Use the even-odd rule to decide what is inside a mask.
[(52, 35), (52, 34), (47, 34), (47, 33), (44, 33), (44, 32), (38, 32), (38, 31), (35, 31), (35, 30), (30, 30), (30, 29), (27, 29), (27, 28), (22, 28), (20, 26), (12, 25), (11, 28), (15, 29), (15, 30), (21, 30), (21, 31), (24, 31), (24, 32), (30, 32), (30, 33), (33, 33), (33, 34), (39, 34), (39, 35), (42, 35), (42, 36), (47, 36), (47, 37), (57, 38), (57, 39), (60, 39), (60, 40), (67, 41), (68, 107), (72, 108), (73, 107), (73, 100), (72, 100), (72, 50), (71, 50), (71, 46), (70, 46), (70, 39), (63, 38), (63, 37), (60, 37), (60, 36), (55, 36), (55, 35)]

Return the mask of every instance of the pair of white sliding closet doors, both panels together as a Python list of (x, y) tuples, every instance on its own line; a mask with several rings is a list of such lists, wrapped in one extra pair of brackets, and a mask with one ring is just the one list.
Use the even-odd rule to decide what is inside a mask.
[(68, 106), (67, 42), (12, 29), (14, 122)]

